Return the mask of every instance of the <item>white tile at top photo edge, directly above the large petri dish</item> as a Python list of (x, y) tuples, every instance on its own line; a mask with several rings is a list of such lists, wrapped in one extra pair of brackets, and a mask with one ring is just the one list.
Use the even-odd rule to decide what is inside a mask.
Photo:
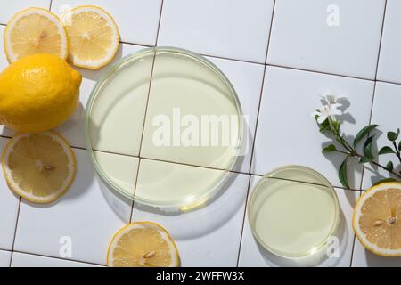
[(166, 0), (158, 45), (265, 62), (273, 0)]

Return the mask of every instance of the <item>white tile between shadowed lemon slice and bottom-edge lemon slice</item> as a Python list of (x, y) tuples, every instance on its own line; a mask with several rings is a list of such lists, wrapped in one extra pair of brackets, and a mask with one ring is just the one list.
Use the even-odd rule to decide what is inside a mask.
[(115, 232), (129, 221), (132, 203), (119, 199), (94, 175), (86, 151), (75, 150), (77, 177), (50, 205), (22, 202), (17, 251), (103, 265)]

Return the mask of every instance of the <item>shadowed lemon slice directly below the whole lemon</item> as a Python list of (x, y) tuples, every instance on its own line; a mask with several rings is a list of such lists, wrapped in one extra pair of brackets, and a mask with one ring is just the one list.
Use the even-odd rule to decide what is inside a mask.
[(12, 191), (34, 203), (58, 199), (76, 172), (74, 153), (54, 132), (17, 134), (4, 148), (2, 165)]

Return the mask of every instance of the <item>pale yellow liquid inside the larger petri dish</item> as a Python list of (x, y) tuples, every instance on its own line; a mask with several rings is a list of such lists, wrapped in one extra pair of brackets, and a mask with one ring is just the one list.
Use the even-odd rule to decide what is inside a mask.
[[(185, 57), (157, 53), (154, 58), (153, 54), (120, 69), (97, 95), (89, 126), (91, 143), (95, 150), (110, 153), (97, 154), (95, 159), (130, 196), (164, 204), (192, 203), (217, 186), (225, 177), (222, 170), (232, 167), (241, 132), (238, 121), (229, 126), (228, 145), (219, 137), (217, 146), (182, 142), (177, 146), (171, 137), (170, 145), (158, 146), (153, 142), (159, 127), (154, 126), (154, 118), (164, 115), (173, 126), (174, 109), (199, 122), (202, 115), (241, 119), (241, 114), (231, 90), (213, 70)], [(118, 154), (141, 160), (114, 157)]]

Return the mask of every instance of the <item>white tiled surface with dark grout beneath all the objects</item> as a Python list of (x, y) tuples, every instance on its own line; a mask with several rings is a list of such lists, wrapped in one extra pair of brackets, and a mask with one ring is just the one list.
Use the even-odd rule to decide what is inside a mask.
[[(350, 99), (345, 131), (355, 134), (369, 121), (383, 130), (400, 127), (398, 0), (0, 0), (0, 33), (12, 14), (28, 6), (60, 14), (80, 4), (100, 5), (114, 16), (123, 42), (117, 59), (146, 46), (173, 45), (216, 63), (249, 115), (248, 155), (224, 194), (191, 213), (168, 216), (110, 194), (94, 175), (82, 129), (86, 101), (102, 70), (79, 69), (81, 106), (58, 128), (75, 148), (78, 176), (69, 193), (48, 206), (20, 201), (1, 176), (0, 266), (104, 265), (113, 233), (137, 220), (168, 228), (183, 266), (401, 266), (401, 258), (374, 256), (355, 239), (352, 208), (375, 178), (369, 168), (358, 169), (354, 190), (341, 189), (339, 161), (323, 157), (325, 139), (310, 118), (319, 104), (316, 94), (332, 92)], [(339, 26), (329, 26), (337, 8)], [(0, 68), (6, 66), (0, 53)], [(2, 128), (0, 134), (3, 148), (12, 132)], [(339, 187), (340, 258), (294, 264), (267, 254), (253, 239), (245, 216), (248, 192), (258, 175), (290, 163), (314, 167)], [(69, 260), (60, 256), (62, 237), (73, 242)]]

